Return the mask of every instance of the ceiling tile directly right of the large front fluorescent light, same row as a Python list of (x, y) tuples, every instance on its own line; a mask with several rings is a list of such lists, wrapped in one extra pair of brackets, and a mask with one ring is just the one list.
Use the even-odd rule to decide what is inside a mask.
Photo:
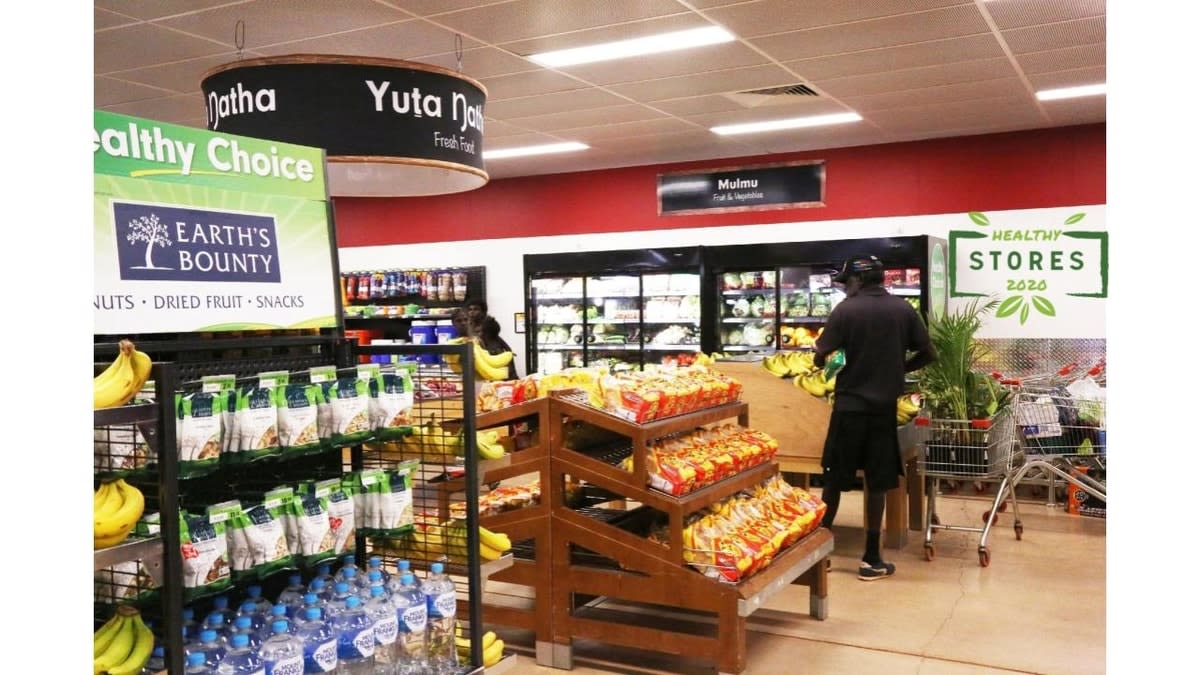
[(869, 22), (784, 32), (751, 40), (780, 61), (811, 59), (912, 42), (989, 32), (974, 5), (901, 14)]

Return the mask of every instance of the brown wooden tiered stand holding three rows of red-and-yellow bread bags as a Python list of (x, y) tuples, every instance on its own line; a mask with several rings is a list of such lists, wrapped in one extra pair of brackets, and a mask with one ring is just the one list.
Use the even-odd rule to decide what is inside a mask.
[[(559, 393), (551, 398), (550, 480), (542, 486), (542, 498), (550, 508), (553, 533), (553, 639), (546, 644), (539, 638), (539, 664), (570, 669), (572, 639), (590, 639), (700, 657), (714, 662), (721, 673), (740, 673), (746, 661), (746, 617), (775, 592), (788, 584), (809, 586), (809, 613), (818, 620), (826, 617), (828, 572), (824, 560), (833, 552), (833, 534), (828, 530), (818, 527), (778, 554), (767, 568), (739, 584), (715, 581), (684, 562), (684, 518), (774, 476), (779, 472), (775, 461), (680, 497), (647, 484), (652, 441), (731, 418), (748, 425), (749, 406), (727, 404), (632, 424), (588, 406), (586, 398), (577, 394)], [(616, 459), (612, 453), (598, 456), (566, 449), (563, 430), (570, 420), (628, 438), (632, 473), (612, 464)], [(564, 485), (568, 476), (611, 492), (612, 500), (624, 509), (572, 508)], [(635, 503), (641, 506), (625, 510)], [(670, 522), (666, 546), (652, 542), (644, 533), (635, 533), (636, 526), (630, 526), (640, 515), (649, 515), (649, 509), (666, 514)], [(661, 619), (647, 620), (644, 611), (616, 608), (617, 603), (601, 603), (601, 599), (653, 604), (703, 616), (695, 631), (677, 632), (664, 628)]]

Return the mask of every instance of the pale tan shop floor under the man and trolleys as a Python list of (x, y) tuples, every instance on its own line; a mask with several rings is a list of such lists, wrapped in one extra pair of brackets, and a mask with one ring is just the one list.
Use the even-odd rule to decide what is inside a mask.
[[(1010, 514), (989, 536), (991, 565), (979, 566), (979, 534), (941, 531), (926, 562), (923, 533), (884, 550), (896, 575), (856, 577), (862, 500), (847, 494), (834, 525), (829, 617), (808, 615), (808, 590), (791, 586), (750, 617), (751, 675), (853, 673), (1093, 674), (1105, 670), (1105, 522), (1022, 501), (1024, 539)], [(947, 525), (976, 527), (982, 498), (940, 497)], [(794, 609), (794, 613), (787, 610)], [(511, 673), (557, 674), (533, 659), (528, 633), (497, 631), (520, 656)], [(713, 673), (706, 664), (654, 652), (576, 641), (577, 674)]]

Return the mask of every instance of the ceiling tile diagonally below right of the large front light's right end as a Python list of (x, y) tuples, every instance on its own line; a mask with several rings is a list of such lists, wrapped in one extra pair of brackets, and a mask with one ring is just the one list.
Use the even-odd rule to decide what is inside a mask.
[(991, 34), (952, 37), (917, 42), (900, 47), (868, 49), (848, 54), (818, 56), (787, 61), (784, 65), (792, 68), (805, 79), (832, 79), (858, 74), (882, 73), (894, 70), (918, 68), (977, 59), (1003, 56), (1004, 49)]

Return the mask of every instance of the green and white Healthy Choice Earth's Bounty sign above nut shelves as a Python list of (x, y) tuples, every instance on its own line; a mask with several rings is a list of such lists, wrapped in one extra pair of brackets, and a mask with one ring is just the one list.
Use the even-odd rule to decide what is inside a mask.
[(96, 112), (94, 333), (337, 324), (324, 151)]

